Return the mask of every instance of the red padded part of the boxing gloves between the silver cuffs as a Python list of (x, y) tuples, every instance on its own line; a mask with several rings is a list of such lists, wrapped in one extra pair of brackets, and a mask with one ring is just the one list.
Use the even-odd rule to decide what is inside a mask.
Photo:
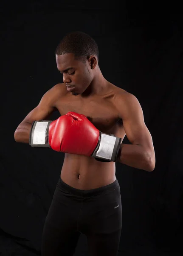
[(50, 142), (53, 150), (91, 156), (99, 141), (99, 130), (86, 116), (68, 112), (66, 115), (60, 116), (53, 125)]

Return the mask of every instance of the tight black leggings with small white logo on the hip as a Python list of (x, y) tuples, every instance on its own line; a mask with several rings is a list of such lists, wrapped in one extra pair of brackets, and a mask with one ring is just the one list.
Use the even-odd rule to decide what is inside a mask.
[(80, 190), (60, 178), (42, 233), (42, 256), (73, 256), (81, 233), (91, 256), (117, 256), (122, 228), (118, 180)]

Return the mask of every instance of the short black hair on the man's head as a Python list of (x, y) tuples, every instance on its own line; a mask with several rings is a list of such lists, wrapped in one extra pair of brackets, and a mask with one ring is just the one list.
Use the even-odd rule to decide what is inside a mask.
[(56, 47), (55, 54), (74, 53), (75, 58), (86, 61), (90, 55), (99, 60), (99, 48), (96, 41), (88, 34), (80, 31), (66, 34)]

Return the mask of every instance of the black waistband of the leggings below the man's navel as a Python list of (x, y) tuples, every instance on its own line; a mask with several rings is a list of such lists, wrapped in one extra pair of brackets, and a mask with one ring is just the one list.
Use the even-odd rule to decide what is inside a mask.
[(75, 188), (69, 186), (68, 184), (66, 184), (61, 179), (61, 177), (59, 178), (57, 186), (59, 186), (61, 189), (64, 189), (65, 191), (69, 192), (70, 194), (84, 196), (84, 197), (100, 195), (100, 194), (107, 194), (107, 193), (113, 192), (120, 188), (118, 180), (116, 179), (113, 183), (108, 184), (106, 186), (96, 188), (96, 189), (89, 189), (89, 190), (75, 189)]

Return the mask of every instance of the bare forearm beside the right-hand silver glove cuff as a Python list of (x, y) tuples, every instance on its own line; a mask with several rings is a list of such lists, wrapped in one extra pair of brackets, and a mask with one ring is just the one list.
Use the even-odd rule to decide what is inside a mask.
[(141, 145), (121, 143), (117, 161), (148, 172), (154, 169), (154, 161), (151, 154)]

